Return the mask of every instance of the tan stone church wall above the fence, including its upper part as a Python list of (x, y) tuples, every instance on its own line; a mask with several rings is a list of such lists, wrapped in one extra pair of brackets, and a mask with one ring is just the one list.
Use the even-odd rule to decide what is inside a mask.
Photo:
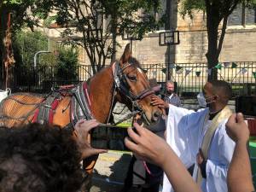
[[(166, 2), (166, 1), (163, 1)], [(172, 0), (175, 4), (175, 0)], [(189, 16), (182, 17), (178, 14), (177, 4), (172, 10), (172, 27), (180, 32), (180, 44), (172, 45), (168, 49), (159, 45), (159, 32), (146, 34), (142, 41), (132, 42), (132, 55), (141, 63), (187, 63), (205, 62), (207, 52), (206, 15), (202, 12), (194, 12), (193, 19)], [(235, 19), (238, 14), (232, 15)], [(230, 22), (232, 23), (232, 22)], [(60, 29), (45, 30), (49, 38), (60, 37)], [(122, 55), (125, 44), (130, 41), (118, 38), (121, 45), (118, 47), (116, 58)], [(89, 64), (84, 50), (80, 49), (79, 61), (81, 64)], [(219, 61), (256, 61), (256, 25), (228, 26), (224, 38), (223, 49)], [(107, 61), (106, 63), (110, 63)]]

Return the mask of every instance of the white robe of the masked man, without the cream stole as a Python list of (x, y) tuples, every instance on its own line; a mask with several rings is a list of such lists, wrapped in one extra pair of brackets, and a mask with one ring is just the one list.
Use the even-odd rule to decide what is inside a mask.
[[(172, 147), (183, 164), (189, 168), (195, 164), (194, 175), (198, 171), (196, 154), (201, 148), (203, 137), (212, 121), (208, 120), (209, 109), (200, 109), (195, 112), (185, 108), (170, 105), (167, 126), (166, 142)], [(208, 150), (207, 179), (202, 180), (203, 192), (226, 192), (227, 170), (232, 159), (235, 143), (225, 131), (224, 119), (212, 136)], [(166, 175), (162, 192), (173, 191)]]

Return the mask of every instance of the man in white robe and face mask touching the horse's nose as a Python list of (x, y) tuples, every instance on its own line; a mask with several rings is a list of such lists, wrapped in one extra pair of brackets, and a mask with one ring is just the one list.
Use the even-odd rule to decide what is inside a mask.
[[(226, 178), (235, 148), (225, 131), (232, 113), (227, 107), (231, 93), (230, 85), (224, 81), (207, 82), (204, 97), (198, 96), (207, 108), (197, 112), (153, 98), (153, 105), (169, 108), (166, 142), (186, 167), (195, 164), (193, 177), (204, 192), (228, 191)], [(172, 186), (165, 176), (163, 192), (170, 191)]]

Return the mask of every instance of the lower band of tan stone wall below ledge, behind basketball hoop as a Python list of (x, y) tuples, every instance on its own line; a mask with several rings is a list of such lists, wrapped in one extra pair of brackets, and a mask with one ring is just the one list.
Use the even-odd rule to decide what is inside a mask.
[[(131, 43), (121, 38), (118, 40), (121, 47), (118, 48), (117, 59), (123, 54), (125, 45)], [(82, 49), (80, 51), (83, 55), (81, 63), (88, 63), (84, 51)], [(168, 61), (175, 63), (206, 62), (206, 53), (207, 31), (205, 30), (180, 31), (180, 44), (172, 45), (170, 49), (159, 45), (159, 33), (150, 33), (142, 41), (132, 42), (132, 55), (142, 64)], [(228, 29), (219, 61), (256, 61), (256, 27)]]

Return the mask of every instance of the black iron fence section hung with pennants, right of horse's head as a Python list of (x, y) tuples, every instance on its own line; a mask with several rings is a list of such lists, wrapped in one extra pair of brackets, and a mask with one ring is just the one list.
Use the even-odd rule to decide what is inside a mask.
[[(165, 84), (167, 73), (172, 81), (177, 82), (180, 96), (195, 96), (207, 82), (207, 74), (218, 72), (218, 79), (225, 80), (232, 86), (234, 96), (256, 95), (256, 61), (224, 62), (208, 69), (207, 63), (147, 64), (148, 78), (155, 78)], [(169, 72), (168, 72), (169, 70)]]

